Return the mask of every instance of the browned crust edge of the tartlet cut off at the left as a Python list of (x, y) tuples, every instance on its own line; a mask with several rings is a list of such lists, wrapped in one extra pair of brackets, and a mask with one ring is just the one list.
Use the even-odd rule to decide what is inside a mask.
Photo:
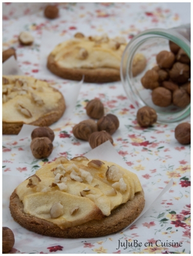
[[(59, 92), (57, 89), (54, 89), (54, 91)], [(63, 95), (61, 94), (61, 98), (58, 101), (58, 108), (51, 110), (47, 116), (40, 117), (37, 120), (28, 124), (36, 125), (36, 126), (49, 126), (52, 123), (58, 121), (58, 119), (60, 119), (60, 117), (65, 112), (65, 110), (66, 110), (66, 103), (65, 103), (65, 99), (63, 98)], [(2, 122), (2, 130), (3, 130), (2, 133), (18, 134), (22, 129), (23, 124), (24, 124), (23, 122), (15, 122), (15, 123)]]

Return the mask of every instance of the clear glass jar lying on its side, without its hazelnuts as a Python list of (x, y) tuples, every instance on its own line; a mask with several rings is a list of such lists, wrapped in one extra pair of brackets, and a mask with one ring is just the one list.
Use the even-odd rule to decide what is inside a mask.
[[(190, 104), (185, 108), (178, 108), (173, 104), (167, 107), (155, 105), (152, 101), (152, 90), (145, 89), (141, 84), (145, 72), (157, 65), (156, 55), (163, 50), (170, 51), (169, 40), (181, 47), (191, 59), (190, 24), (187, 24), (172, 29), (149, 29), (139, 33), (126, 46), (120, 67), (124, 90), (135, 108), (151, 106), (156, 110), (160, 122), (176, 122), (190, 115)], [(137, 53), (143, 54), (147, 63), (145, 69), (134, 77), (132, 63)]]

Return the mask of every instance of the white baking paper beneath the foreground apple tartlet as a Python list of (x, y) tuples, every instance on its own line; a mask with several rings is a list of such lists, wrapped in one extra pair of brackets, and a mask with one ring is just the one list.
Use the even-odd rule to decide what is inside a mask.
[[(26, 130), (23, 130), (24, 133), (26, 133)], [(22, 131), (22, 132), (23, 132)], [(19, 136), (26, 136), (24, 135), (18, 135)], [(17, 139), (16, 138), (16, 139)], [(115, 151), (115, 148), (110, 143), (110, 141), (107, 141), (100, 146), (94, 148), (87, 154), (85, 154), (86, 157), (92, 158), (92, 159), (101, 159), (106, 161), (113, 161), (122, 167), (128, 168), (128, 166), (125, 164), (125, 162), (122, 160), (120, 155)], [(29, 246), (29, 247), (39, 247), (44, 244), (45, 246), (55, 246), (57, 244), (66, 245), (66, 244), (74, 244), (79, 243), (82, 241), (101, 241), (108, 237), (115, 236), (116, 234), (119, 234), (123, 230), (127, 229), (130, 225), (132, 225), (134, 222), (137, 221), (139, 218), (143, 218), (142, 215), (145, 211), (150, 209), (155, 201), (158, 201), (158, 199), (166, 193), (167, 190), (173, 185), (173, 180), (170, 180), (170, 182), (165, 186), (164, 189), (159, 189), (158, 191), (154, 191), (154, 193), (149, 193), (147, 191), (147, 188), (143, 186), (144, 194), (145, 194), (145, 206), (140, 214), (140, 216), (129, 226), (125, 227), (123, 230), (120, 230), (114, 234), (110, 234), (109, 236), (105, 237), (99, 237), (99, 238), (85, 238), (85, 239), (59, 239), (59, 238), (51, 238), (46, 236), (41, 236), (39, 234), (36, 234), (34, 232), (28, 231), (25, 228), (21, 227), (18, 223), (16, 223), (13, 218), (11, 217), (10, 211), (9, 211), (9, 197), (14, 190), (14, 188), (19, 185), (19, 183), (22, 182), (21, 178), (18, 176), (12, 176), (12, 175), (3, 175), (3, 226), (8, 226), (11, 228), (15, 234), (15, 245), (14, 247), (18, 250), (22, 251), (23, 246)], [(148, 187), (149, 190), (149, 187)], [(137, 224), (136, 224), (137, 225)], [(140, 228), (140, 227), (139, 227)], [(34, 248), (35, 248), (34, 247)]]

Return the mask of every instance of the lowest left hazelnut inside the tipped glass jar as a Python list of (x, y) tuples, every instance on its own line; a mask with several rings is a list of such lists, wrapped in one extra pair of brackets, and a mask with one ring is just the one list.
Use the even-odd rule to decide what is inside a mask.
[(158, 87), (152, 92), (152, 101), (157, 106), (169, 106), (171, 104), (172, 94), (164, 87)]

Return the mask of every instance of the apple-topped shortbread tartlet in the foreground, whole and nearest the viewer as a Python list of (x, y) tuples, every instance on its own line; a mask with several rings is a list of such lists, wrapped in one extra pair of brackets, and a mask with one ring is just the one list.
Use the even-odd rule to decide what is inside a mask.
[(10, 197), (13, 219), (36, 233), (92, 238), (121, 230), (144, 207), (136, 174), (79, 156), (59, 157), (20, 183)]

